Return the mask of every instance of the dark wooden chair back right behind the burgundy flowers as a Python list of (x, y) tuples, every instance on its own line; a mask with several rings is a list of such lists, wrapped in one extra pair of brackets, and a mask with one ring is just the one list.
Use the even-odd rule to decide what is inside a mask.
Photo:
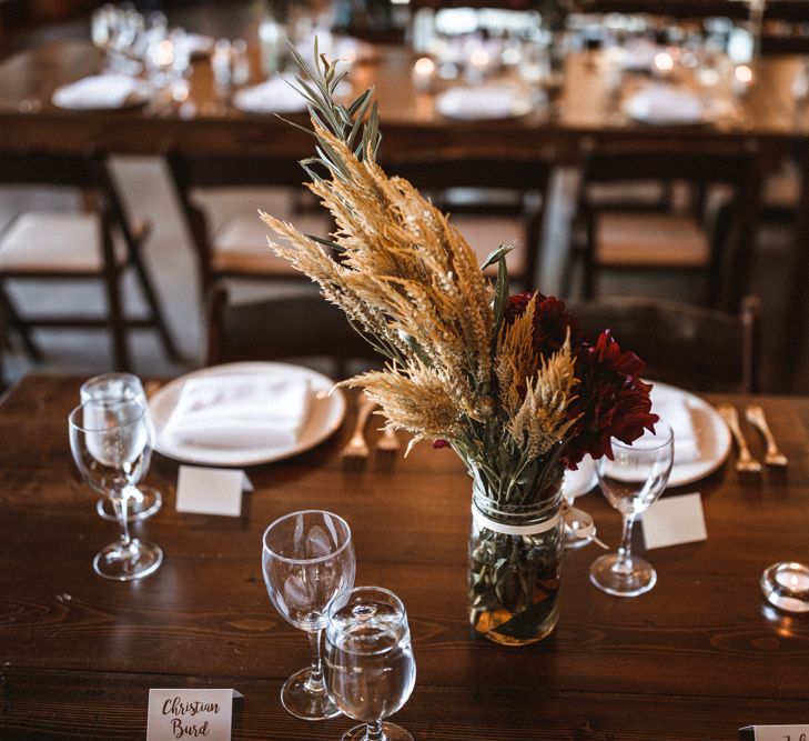
[(756, 298), (745, 298), (738, 314), (640, 298), (569, 302), (568, 309), (594, 339), (604, 329), (613, 330), (621, 348), (646, 361), (649, 379), (691, 391), (759, 389)]

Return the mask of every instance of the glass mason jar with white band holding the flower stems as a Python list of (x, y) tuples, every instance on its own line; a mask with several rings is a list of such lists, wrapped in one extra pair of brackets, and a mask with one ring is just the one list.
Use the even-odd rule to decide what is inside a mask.
[(473, 487), (469, 622), (495, 643), (525, 645), (548, 635), (559, 617), (565, 553), (562, 480), (534, 504), (502, 504)]

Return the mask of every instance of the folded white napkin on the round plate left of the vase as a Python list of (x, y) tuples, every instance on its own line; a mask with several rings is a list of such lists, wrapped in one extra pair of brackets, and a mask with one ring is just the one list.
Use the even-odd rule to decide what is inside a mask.
[(297, 442), (311, 402), (307, 379), (264, 373), (191, 378), (161, 437), (208, 448), (284, 448)]

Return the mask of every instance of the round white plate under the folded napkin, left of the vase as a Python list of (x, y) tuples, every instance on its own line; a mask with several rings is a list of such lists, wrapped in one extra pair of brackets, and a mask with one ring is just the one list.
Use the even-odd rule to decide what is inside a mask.
[[(171, 440), (164, 440), (162, 431), (174, 410), (183, 383), (190, 378), (204, 375), (233, 374), (233, 373), (279, 373), (287, 377), (297, 375), (309, 379), (312, 384), (314, 399), (309, 421), (301, 431), (297, 442), (285, 448), (205, 448), (201, 445), (183, 444)], [(343, 423), (345, 417), (345, 397), (340, 389), (328, 394), (334, 387), (332, 379), (317, 371), (291, 366), (289, 363), (247, 362), (227, 363), (225, 366), (213, 366), (182, 375), (166, 383), (158, 391), (149, 402), (149, 410), (154, 421), (156, 431), (156, 443), (154, 449), (165, 455), (185, 463), (202, 463), (205, 465), (255, 465), (256, 463), (269, 463), (284, 458), (291, 458), (305, 450), (314, 448), (333, 434)]]

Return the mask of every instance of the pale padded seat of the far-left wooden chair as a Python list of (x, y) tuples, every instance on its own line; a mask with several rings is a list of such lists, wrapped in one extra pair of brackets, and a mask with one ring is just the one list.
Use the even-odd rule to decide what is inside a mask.
[[(127, 260), (123, 246), (115, 258)], [(94, 213), (30, 211), (0, 234), (0, 272), (13, 274), (102, 273), (101, 226)]]

